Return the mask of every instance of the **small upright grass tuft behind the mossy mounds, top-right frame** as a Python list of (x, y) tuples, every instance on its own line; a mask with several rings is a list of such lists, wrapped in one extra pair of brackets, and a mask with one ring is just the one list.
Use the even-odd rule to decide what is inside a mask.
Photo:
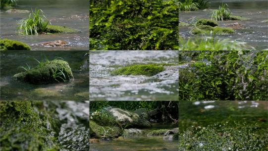
[(222, 5), (219, 5), (218, 9), (212, 11), (211, 19), (215, 20), (228, 20), (230, 18), (230, 9), (228, 8), (228, 5), (225, 3)]

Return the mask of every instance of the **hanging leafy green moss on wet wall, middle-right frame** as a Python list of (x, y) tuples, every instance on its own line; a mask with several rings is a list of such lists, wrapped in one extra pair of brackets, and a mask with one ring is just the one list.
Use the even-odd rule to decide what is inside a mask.
[(179, 69), (179, 100), (267, 99), (267, 51), (202, 51), (195, 56), (195, 63)]

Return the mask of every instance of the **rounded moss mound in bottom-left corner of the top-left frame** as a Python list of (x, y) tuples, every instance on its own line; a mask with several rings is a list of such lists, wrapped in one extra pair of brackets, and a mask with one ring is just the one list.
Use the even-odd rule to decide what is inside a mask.
[(16, 40), (0, 40), (0, 50), (31, 50), (31, 47), (23, 42)]

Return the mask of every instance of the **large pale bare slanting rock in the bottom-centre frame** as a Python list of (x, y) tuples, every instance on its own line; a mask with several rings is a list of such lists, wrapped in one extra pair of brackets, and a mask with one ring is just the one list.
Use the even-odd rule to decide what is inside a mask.
[(115, 118), (117, 122), (119, 122), (122, 126), (127, 124), (132, 124), (133, 127), (141, 127), (141, 128), (150, 128), (152, 127), (151, 123), (142, 116), (139, 116), (137, 113), (123, 110), (120, 108), (105, 108), (111, 116)]

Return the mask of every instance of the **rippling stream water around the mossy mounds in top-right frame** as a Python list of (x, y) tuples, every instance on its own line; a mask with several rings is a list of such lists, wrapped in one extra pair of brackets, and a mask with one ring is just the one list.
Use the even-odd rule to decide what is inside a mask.
[[(218, 6), (227, 3), (231, 11), (231, 15), (251, 18), (251, 20), (229, 20), (217, 21), (219, 26), (225, 27), (227, 24), (236, 23), (242, 25), (242, 29), (235, 30), (235, 34), (216, 35), (219, 38), (228, 38), (231, 40), (246, 42), (253, 46), (256, 50), (268, 49), (268, 23), (262, 22), (268, 19), (268, 1), (267, 0), (211, 0), (210, 9), (218, 9)], [(180, 11), (179, 21), (190, 22), (191, 18), (207, 18), (210, 19), (211, 11)], [(191, 35), (192, 27), (179, 27), (179, 34), (182, 37), (198, 37)]]

